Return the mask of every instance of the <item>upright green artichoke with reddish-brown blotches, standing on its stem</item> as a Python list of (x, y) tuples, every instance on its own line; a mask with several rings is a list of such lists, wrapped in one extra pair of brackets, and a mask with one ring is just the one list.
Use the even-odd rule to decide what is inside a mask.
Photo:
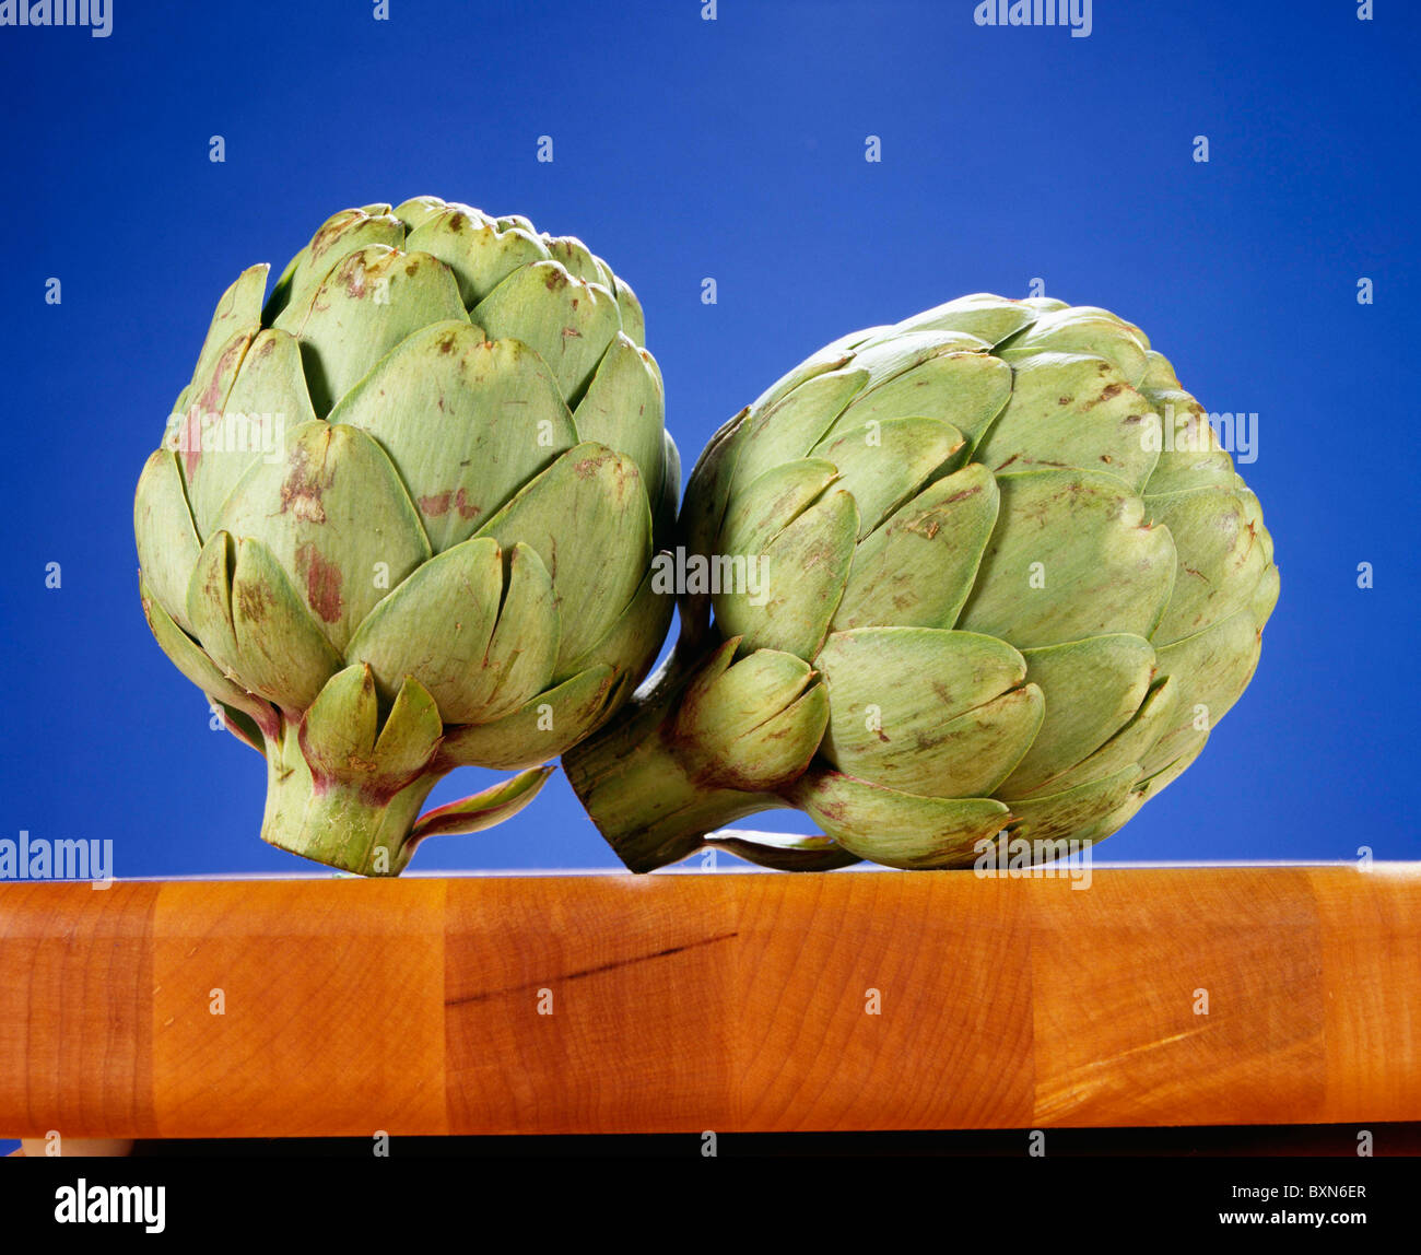
[[(637, 297), (421, 196), (244, 270), (138, 483), (148, 623), (267, 759), (264, 840), (398, 874), (533, 797), (645, 675), (675, 445)], [(526, 769), (418, 819), (456, 766)]]

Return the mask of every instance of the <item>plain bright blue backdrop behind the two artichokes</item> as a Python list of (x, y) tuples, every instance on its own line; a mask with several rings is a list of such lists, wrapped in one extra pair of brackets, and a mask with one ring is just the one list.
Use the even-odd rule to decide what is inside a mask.
[[(1421, 856), (1418, 9), (1097, 0), (1071, 38), (978, 28), (971, 0), (725, 0), (716, 21), (698, 0), (392, 0), (389, 21), (115, 0), (107, 40), (0, 28), (0, 836), (112, 837), (119, 876), (306, 870), (257, 839), (261, 760), (149, 637), (134, 485), (239, 270), (429, 192), (577, 235), (632, 283), (688, 468), (823, 343), (965, 293), (1040, 277), (1144, 325), (1208, 409), (1259, 414), (1242, 470), (1283, 594), (1242, 702), (1104, 853)], [(611, 866), (560, 775), (415, 861)]]

